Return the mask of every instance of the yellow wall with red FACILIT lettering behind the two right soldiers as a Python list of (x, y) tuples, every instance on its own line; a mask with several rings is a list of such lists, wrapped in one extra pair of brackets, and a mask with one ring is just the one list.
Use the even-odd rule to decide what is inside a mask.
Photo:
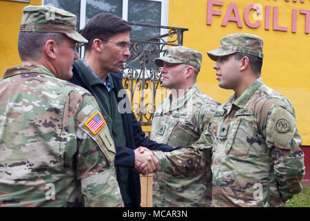
[[(288, 97), (295, 107), (298, 131), (302, 135), (302, 145), (310, 145), (310, 36), (305, 34), (306, 15), (300, 9), (310, 10), (310, 1), (304, 3), (293, 0), (231, 0), (222, 1), (223, 6), (213, 6), (221, 15), (212, 16), (212, 24), (207, 25), (207, 6), (210, 0), (170, 0), (169, 26), (188, 28), (184, 32), (183, 46), (194, 48), (203, 54), (201, 72), (197, 85), (210, 97), (223, 103), (233, 94), (233, 90), (219, 88), (212, 69), (214, 61), (209, 59), (208, 50), (218, 48), (220, 39), (235, 32), (248, 32), (259, 35), (264, 40), (264, 62), (262, 78), (264, 83)], [(237, 4), (243, 28), (228, 21), (221, 26), (231, 3)], [(244, 22), (244, 9), (250, 4), (262, 6), (262, 24), (249, 28)], [(265, 7), (271, 6), (270, 30), (265, 30)], [(278, 7), (278, 25), (288, 27), (288, 31), (273, 30), (273, 7)], [(297, 29), (291, 32), (292, 11), (298, 9)], [(255, 23), (255, 10), (250, 11), (250, 21)], [(232, 14), (231, 16), (235, 16)], [(310, 16), (308, 18), (310, 20)]]

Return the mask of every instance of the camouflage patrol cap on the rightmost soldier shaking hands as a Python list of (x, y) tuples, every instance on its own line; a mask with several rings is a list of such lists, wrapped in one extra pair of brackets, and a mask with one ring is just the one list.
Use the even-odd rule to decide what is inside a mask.
[(235, 52), (263, 58), (263, 40), (259, 36), (246, 33), (231, 34), (221, 39), (219, 48), (207, 53), (210, 59), (217, 61), (218, 57), (232, 55)]

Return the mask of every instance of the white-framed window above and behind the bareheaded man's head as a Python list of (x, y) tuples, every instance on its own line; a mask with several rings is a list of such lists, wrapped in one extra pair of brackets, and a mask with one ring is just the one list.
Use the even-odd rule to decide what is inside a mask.
[[(101, 12), (110, 12), (122, 17), (129, 23), (145, 23), (167, 26), (169, 0), (42, 0), (43, 5), (51, 4), (72, 12), (77, 16), (77, 28)], [(163, 35), (160, 28), (133, 26), (132, 40), (147, 40)]]

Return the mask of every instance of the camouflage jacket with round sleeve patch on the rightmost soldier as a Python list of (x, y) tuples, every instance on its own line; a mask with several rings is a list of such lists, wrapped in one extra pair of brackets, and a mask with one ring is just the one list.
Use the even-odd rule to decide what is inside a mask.
[[(300, 193), (304, 153), (293, 104), (261, 78), (219, 106), (195, 146), (206, 143), (213, 151), (211, 206), (284, 206)], [(187, 149), (186, 155), (192, 170), (201, 169), (201, 152)], [(177, 160), (171, 156), (164, 165), (177, 167), (177, 174), (188, 170)]]

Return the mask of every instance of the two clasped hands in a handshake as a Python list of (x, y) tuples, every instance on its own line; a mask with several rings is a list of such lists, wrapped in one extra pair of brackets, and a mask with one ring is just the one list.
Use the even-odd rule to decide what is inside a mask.
[(154, 173), (159, 166), (159, 162), (152, 151), (148, 148), (140, 146), (134, 150), (134, 171), (142, 175)]

